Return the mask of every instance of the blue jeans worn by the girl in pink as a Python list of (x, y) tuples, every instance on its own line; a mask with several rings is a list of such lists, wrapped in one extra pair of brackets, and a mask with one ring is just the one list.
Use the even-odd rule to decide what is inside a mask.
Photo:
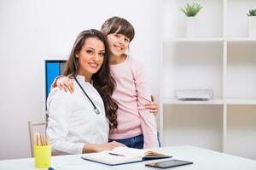
[(125, 144), (129, 148), (143, 149), (144, 139), (143, 134), (130, 139), (108, 139), (108, 142), (116, 141)]

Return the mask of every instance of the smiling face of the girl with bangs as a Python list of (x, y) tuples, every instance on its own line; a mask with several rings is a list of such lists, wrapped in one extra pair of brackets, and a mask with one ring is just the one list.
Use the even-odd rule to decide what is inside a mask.
[(114, 56), (121, 56), (122, 54), (125, 54), (125, 51), (129, 46), (129, 43), (130, 39), (122, 34), (108, 34), (108, 44), (110, 52)]

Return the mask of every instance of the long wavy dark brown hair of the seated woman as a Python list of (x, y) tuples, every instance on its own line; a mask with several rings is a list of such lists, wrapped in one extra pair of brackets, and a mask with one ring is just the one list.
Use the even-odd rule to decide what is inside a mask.
[(116, 111), (118, 110), (118, 105), (116, 101), (111, 97), (113, 94), (113, 89), (115, 88), (115, 81), (110, 74), (109, 68), (109, 48), (106, 35), (101, 31), (95, 29), (82, 31), (79, 33), (76, 41), (73, 44), (73, 49), (67, 60), (67, 68), (64, 72), (66, 77), (76, 77), (79, 72), (79, 59), (76, 54), (84, 46), (84, 42), (87, 38), (94, 37), (101, 40), (105, 46), (105, 55), (102, 67), (99, 71), (92, 75), (93, 86), (96, 88), (98, 93), (101, 95), (104, 102), (106, 116), (109, 120), (110, 129), (116, 128), (118, 126)]

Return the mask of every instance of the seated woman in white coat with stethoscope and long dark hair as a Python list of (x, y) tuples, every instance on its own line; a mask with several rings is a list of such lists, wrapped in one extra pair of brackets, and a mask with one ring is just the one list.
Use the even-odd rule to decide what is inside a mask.
[(114, 81), (108, 53), (107, 38), (101, 31), (82, 31), (74, 42), (64, 75), (71, 78), (76, 90), (68, 94), (54, 88), (47, 99), (47, 134), (53, 150), (80, 154), (124, 146), (108, 143), (109, 127), (117, 127), (118, 109), (111, 98)]

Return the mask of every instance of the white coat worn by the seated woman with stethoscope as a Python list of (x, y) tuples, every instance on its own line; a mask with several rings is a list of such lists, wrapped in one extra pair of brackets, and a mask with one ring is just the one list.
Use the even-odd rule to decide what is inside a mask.
[(68, 154), (82, 153), (84, 144), (108, 143), (108, 119), (102, 98), (83, 76), (77, 79), (101, 113), (96, 115), (75, 80), (73, 94), (59, 88), (51, 90), (47, 99), (47, 134), (53, 150)]

